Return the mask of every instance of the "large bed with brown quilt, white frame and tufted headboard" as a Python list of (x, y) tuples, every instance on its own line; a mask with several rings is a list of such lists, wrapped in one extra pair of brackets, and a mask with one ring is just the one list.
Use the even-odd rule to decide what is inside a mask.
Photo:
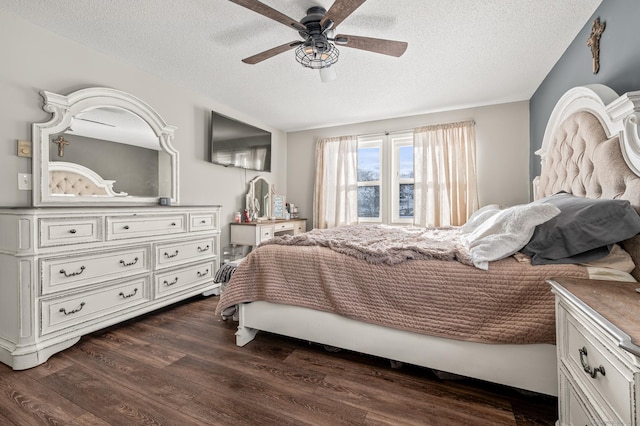
[[(532, 227), (535, 234), (523, 248), (528, 255), (515, 250), (483, 269), (469, 260), (469, 252), (450, 250), (442, 255), (449, 259), (441, 259), (420, 257), (417, 250), (413, 260), (394, 264), (388, 258), (372, 262), (345, 254), (353, 247), (336, 252), (310, 243), (315, 234), (302, 245), (283, 242), (287, 237), (261, 245), (239, 265), (217, 313), (237, 307), (239, 346), (266, 331), (556, 395), (554, 301), (546, 280), (602, 278), (598, 274), (607, 275), (608, 268), (599, 262), (610, 256), (588, 253), (579, 263), (564, 264), (556, 261), (561, 255), (552, 256), (533, 242), (558, 235), (560, 225), (554, 221), (566, 219), (558, 198), (607, 206), (612, 202), (597, 202), (619, 200), (614, 204), (624, 204), (621, 214), (632, 225), (607, 229), (606, 238), (617, 243), (607, 242), (607, 252), (616, 248), (631, 265), (626, 262), (625, 272), (611, 275), (640, 278), (635, 266), (640, 265), (640, 237), (635, 236), (640, 230), (638, 110), (640, 92), (618, 96), (603, 85), (576, 87), (558, 101), (537, 152), (542, 171), (533, 185), (537, 201), (530, 204), (552, 204), (562, 212), (549, 213), (551, 219)], [(480, 221), (483, 212), (476, 213), (469, 232), (486, 228), (488, 221)], [(568, 222), (571, 226), (575, 220)], [(617, 233), (631, 228), (630, 235)], [(344, 276), (351, 279), (344, 282)], [(314, 285), (319, 278), (323, 284)], [(419, 290), (408, 289), (410, 281)], [(503, 305), (507, 313), (498, 314)]]

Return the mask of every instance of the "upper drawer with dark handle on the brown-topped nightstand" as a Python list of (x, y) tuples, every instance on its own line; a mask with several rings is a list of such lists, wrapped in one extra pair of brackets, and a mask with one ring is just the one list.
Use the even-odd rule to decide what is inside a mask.
[(603, 418), (632, 424), (633, 373), (575, 317), (567, 313), (566, 318), (566, 342), (560, 345), (561, 362), (566, 364), (585, 394), (600, 401), (595, 405), (601, 408), (599, 414)]

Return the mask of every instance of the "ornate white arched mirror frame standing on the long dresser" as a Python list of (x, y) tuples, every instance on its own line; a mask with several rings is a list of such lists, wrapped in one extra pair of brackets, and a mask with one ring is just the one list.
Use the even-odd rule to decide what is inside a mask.
[[(67, 96), (43, 91), (43, 109), (52, 113), (49, 121), (34, 123), (33, 137), (33, 205), (70, 206), (70, 205), (147, 205), (157, 204), (159, 197), (170, 197), (172, 204), (179, 203), (178, 152), (171, 146), (175, 126), (168, 125), (148, 104), (137, 97), (116, 89), (93, 87), (81, 89)], [(169, 159), (169, 169), (162, 170), (164, 182), (158, 182), (158, 197), (150, 196), (56, 196), (49, 191), (50, 138), (64, 132), (72, 124), (77, 114), (97, 108), (120, 108), (131, 112), (146, 122), (158, 137), (158, 151)], [(105, 176), (103, 176), (105, 177)], [(114, 178), (106, 176), (105, 178)], [(158, 178), (160, 180), (160, 177)], [(161, 185), (162, 184), (162, 185)]]

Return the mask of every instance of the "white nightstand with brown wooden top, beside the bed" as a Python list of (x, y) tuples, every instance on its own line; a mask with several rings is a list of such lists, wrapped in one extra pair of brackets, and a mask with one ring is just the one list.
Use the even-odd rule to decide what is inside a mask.
[(638, 283), (557, 279), (560, 425), (640, 424)]

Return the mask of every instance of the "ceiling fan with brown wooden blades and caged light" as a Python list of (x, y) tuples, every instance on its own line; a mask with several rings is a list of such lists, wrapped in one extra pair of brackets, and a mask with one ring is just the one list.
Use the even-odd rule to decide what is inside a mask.
[(407, 43), (403, 41), (346, 34), (335, 35), (335, 29), (338, 24), (348, 18), (366, 0), (335, 0), (328, 11), (321, 6), (313, 6), (307, 10), (307, 15), (300, 22), (258, 0), (230, 1), (280, 22), (298, 31), (298, 34), (302, 37), (302, 40), (291, 41), (249, 56), (242, 60), (246, 64), (257, 64), (295, 48), (296, 60), (304, 67), (320, 70), (320, 77), (325, 82), (336, 78), (335, 70), (331, 68), (338, 61), (340, 54), (335, 46), (336, 44), (395, 57), (402, 56), (407, 50)]

